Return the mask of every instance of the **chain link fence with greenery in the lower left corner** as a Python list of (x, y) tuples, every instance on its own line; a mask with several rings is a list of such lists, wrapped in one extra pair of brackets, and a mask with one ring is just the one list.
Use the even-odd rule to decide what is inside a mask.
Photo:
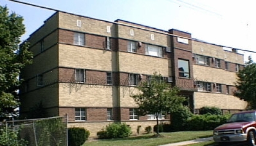
[(28, 146), (68, 146), (68, 118), (51, 117), (1, 122), (1, 126), (19, 131)]

